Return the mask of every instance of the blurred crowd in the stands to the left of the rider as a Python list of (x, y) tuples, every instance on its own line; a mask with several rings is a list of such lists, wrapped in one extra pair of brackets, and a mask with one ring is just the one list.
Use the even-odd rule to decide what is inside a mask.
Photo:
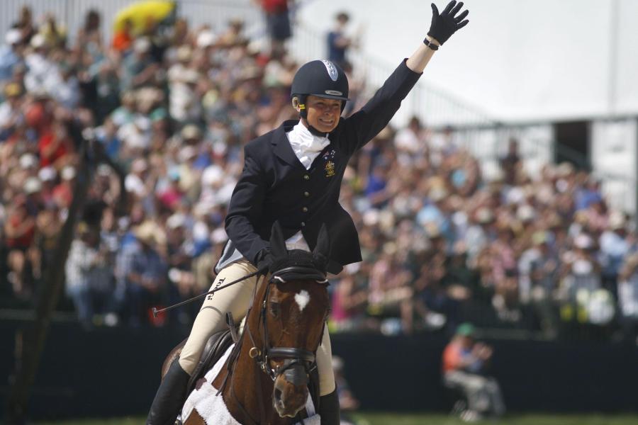
[(180, 18), (148, 18), (137, 29), (124, 21), (112, 40), (101, 25), (91, 11), (70, 38), (55, 16), (36, 19), (24, 7), (5, 35), (2, 290), (30, 305), (54, 266), (84, 160), (72, 132), (82, 120), (103, 161), (69, 251), (68, 300), (87, 327), (189, 322), (188, 309), (169, 318), (148, 308), (210, 285), (242, 143), (295, 116), (289, 86), (298, 65), (281, 34), (264, 47), (238, 18), (215, 29)]

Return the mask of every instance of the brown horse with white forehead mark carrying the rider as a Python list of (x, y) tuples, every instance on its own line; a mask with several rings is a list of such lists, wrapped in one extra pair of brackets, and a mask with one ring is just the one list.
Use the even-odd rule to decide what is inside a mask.
[[(287, 251), (277, 224), (270, 244), (275, 260), (258, 285), (242, 336), (216, 378), (193, 392), (212, 385), (232, 419), (240, 424), (287, 425), (306, 416), (309, 379), (316, 368), (315, 353), (330, 307), (325, 227), (312, 253)], [(314, 384), (318, 390), (318, 383)], [(211, 388), (205, 390), (210, 394)], [(184, 425), (203, 425), (203, 416), (192, 409), (182, 419)]]

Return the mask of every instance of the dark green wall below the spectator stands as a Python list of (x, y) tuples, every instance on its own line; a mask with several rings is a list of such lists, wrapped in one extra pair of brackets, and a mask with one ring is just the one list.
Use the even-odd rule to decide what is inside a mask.
[[(0, 392), (13, 366), (21, 326), (0, 323)], [(145, 414), (166, 353), (185, 336), (180, 329), (98, 329), (53, 324), (30, 399), (33, 419)], [(442, 335), (332, 336), (362, 409), (442, 410)], [(488, 340), (492, 373), (510, 410), (628, 412), (638, 410), (638, 348), (602, 342)], [(0, 412), (2, 414), (2, 412)], [(1, 417), (1, 416), (0, 416)]]

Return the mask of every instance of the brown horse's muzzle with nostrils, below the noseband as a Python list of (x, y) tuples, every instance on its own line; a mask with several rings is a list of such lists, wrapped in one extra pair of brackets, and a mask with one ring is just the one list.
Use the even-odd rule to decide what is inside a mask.
[(293, 365), (277, 376), (272, 402), (281, 417), (294, 417), (306, 407), (308, 399), (308, 373), (303, 365)]

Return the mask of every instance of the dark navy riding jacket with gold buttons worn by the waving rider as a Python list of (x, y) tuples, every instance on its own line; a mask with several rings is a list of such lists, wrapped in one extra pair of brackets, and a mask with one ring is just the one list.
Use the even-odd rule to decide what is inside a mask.
[(286, 137), (298, 120), (286, 121), (249, 142), (225, 220), (230, 240), (224, 252), (236, 248), (257, 265), (262, 250), (269, 247), (276, 220), (286, 239), (301, 230), (313, 249), (325, 223), (330, 236), (328, 271), (339, 273), (346, 264), (361, 261), (359, 234), (339, 203), (343, 174), (352, 154), (386, 127), (420, 75), (403, 60), (363, 108), (340, 120), (328, 136), (330, 145), (308, 170)]

